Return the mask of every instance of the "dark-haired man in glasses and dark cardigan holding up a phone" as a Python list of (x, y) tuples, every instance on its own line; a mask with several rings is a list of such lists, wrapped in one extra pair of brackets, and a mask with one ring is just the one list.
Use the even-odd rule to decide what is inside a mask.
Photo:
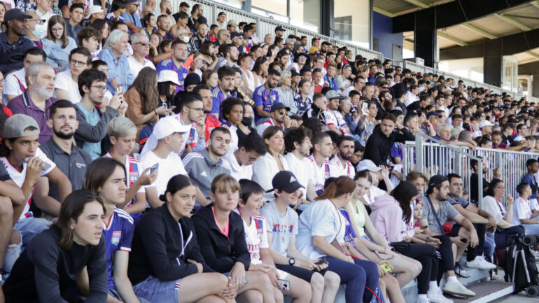
[[(106, 106), (106, 75), (95, 69), (80, 73), (78, 91), (83, 99), (75, 104), (78, 121), (75, 139), (77, 146), (86, 150), (92, 160), (95, 160), (102, 154), (101, 141), (106, 137), (107, 125), (117, 115), (125, 115), (127, 103), (123, 94), (116, 93)], [(97, 106), (101, 106), (101, 109)]]

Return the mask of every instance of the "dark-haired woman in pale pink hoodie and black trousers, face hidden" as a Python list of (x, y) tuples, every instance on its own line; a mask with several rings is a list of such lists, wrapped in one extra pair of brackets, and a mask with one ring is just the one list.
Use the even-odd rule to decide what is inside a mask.
[[(400, 183), (391, 196), (374, 198), (370, 219), (384, 241), (388, 241), (395, 251), (421, 262), (417, 276), (418, 302), (452, 302), (442, 295), (437, 286), (438, 257), (436, 248), (430, 244), (410, 243), (419, 227), (412, 223), (412, 205), (419, 195), (415, 185), (409, 181)], [(427, 292), (428, 290), (428, 292)]]

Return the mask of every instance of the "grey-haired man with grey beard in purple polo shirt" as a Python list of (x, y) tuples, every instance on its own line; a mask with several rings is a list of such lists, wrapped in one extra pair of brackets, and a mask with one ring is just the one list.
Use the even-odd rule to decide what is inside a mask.
[(48, 108), (56, 101), (52, 98), (55, 90), (55, 69), (49, 62), (31, 64), (26, 72), (28, 88), (18, 97), (11, 99), (8, 108), (15, 113), (29, 115), (36, 120), (41, 129), (39, 143), (45, 143), (52, 132), (47, 127)]

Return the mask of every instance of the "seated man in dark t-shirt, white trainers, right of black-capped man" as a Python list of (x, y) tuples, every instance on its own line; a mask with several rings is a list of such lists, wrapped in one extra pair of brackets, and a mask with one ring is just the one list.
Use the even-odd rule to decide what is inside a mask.
[[(477, 246), (468, 247), (466, 266), (478, 269), (495, 269), (496, 265), (493, 265), (484, 259), (483, 252), (484, 249), (488, 249), (490, 253), (486, 253), (486, 255), (491, 255), (494, 251), (493, 247), (485, 247), (489, 242), (485, 242), (484, 237), (487, 229), (491, 230), (496, 228), (496, 220), (494, 220), (490, 213), (478, 209), (475, 204), (468, 202), (467, 199), (462, 197), (463, 186), (461, 176), (458, 174), (449, 174), (447, 175), (447, 180), (449, 181), (449, 195), (447, 196), (447, 201), (449, 201), (449, 204), (451, 204), (458, 213), (473, 223), (479, 240)], [(454, 223), (449, 236), (457, 237), (460, 229), (461, 225)], [(458, 264), (458, 259), (456, 259), (456, 262)], [(463, 269), (460, 270), (462, 271)]]

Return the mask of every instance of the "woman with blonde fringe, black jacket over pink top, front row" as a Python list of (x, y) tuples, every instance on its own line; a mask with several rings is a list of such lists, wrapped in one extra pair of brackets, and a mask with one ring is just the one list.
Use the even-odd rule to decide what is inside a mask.
[[(251, 255), (241, 216), (233, 212), (239, 200), (239, 183), (220, 174), (211, 182), (211, 204), (193, 215), (200, 252), (208, 265), (226, 273), (238, 286), (239, 302), (276, 302), (272, 283), (263, 272), (249, 270)], [(282, 301), (279, 301), (282, 302)]]

